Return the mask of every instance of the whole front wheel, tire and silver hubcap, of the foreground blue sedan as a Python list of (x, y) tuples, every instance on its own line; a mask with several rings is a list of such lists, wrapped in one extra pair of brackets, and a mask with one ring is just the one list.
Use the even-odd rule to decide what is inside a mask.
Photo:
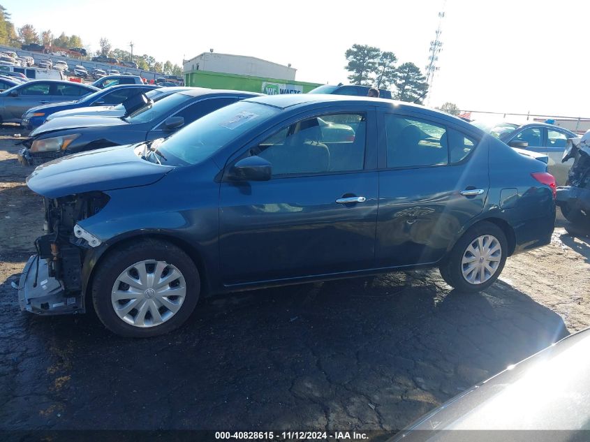
[(94, 309), (105, 327), (121, 336), (170, 332), (189, 318), (198, 301), (196, 265), (168, 242), (129, 244), (98, 265), (92, 285)]

